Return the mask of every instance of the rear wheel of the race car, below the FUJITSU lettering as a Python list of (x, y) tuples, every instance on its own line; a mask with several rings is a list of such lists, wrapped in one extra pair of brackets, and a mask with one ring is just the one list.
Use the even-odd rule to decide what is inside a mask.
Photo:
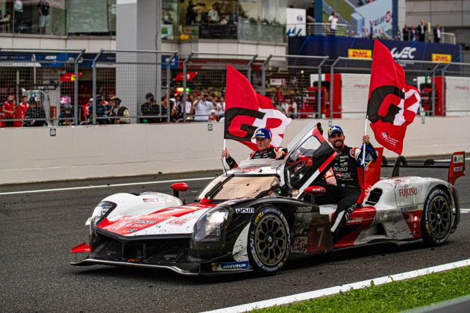
[(434, 188), (424, 202), (421, 234), (424, 243), (442, 245), (451, 234), (453, 224), (452, 202), (441, 188)]

